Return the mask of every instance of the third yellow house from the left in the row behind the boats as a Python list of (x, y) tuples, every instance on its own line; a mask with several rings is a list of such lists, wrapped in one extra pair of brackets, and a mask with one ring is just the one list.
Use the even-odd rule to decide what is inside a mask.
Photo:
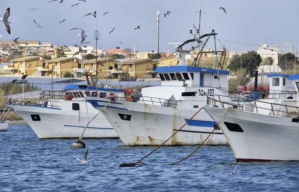
[[(112, 71), (117, 67), (119, 61), (113, 58), (98, 58), (98, 77), (104, 77), (111, 74)], [(103, 64), (104, 66), (102, 66)], [(96, 59), (86, 60), (79, 63), (80, 68), (77, 71), (85, 72), (85, 74), (96, 75)]]

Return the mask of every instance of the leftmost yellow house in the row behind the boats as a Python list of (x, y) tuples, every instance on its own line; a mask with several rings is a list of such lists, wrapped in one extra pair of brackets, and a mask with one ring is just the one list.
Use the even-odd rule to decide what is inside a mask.
[(47, 61), (40, 56), (22, 57), (10, 60), (10, 65), (3, 66), (3, 70), (10, 70), (10, 74), (19, 74), (20, 76), (32, 75), (37, 71), (37, 67)]

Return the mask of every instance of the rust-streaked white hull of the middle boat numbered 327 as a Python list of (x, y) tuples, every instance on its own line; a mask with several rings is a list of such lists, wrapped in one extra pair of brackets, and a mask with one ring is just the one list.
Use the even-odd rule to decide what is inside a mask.
[[(87, 100), (98, 110), (103, 109), (108, 101), (105, 98), (92, 97)], [(104, 116), (124, 145), (160, 145), (195, 113), (196, 111), (191, 110), (119, 100), (111, 102), (103, 110)], [(165, 145), (201, 144), (213, 130), (214, 125), (215, 122), (202, 110)], [(221, 130), (216, 133), (207, 144), (228, 144)]]

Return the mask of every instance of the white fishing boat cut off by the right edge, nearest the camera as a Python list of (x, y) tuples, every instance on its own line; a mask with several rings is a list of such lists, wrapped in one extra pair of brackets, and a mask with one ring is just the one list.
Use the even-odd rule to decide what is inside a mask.
[[(280, 75), (283, 77), (283, 75)], [(299, 75), (289, 77), (296, 93), (286, 99), (241, 100), (236, 103), (222, 101), (223, 96), (209, 95), (203, 109), (216, 122), (224, 115), (220, 128), (225, 134), (237, 162), (299, 160)], [(285, 81), (270, 81), (275, 86)]]

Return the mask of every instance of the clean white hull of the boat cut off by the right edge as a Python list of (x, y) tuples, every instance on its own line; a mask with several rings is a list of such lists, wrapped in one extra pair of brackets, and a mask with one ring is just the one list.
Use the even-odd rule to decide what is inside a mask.
[[(226, 110), (204, 109), (216, 122), (220, 121)], [(292, 122), (291, 118), (231, 109), (224, 122), (238, 124), (244, 131), (231, 131), (231, 126), (225, 123), (220, 126), (237, 162), (299, 160), (299, 123)]]

